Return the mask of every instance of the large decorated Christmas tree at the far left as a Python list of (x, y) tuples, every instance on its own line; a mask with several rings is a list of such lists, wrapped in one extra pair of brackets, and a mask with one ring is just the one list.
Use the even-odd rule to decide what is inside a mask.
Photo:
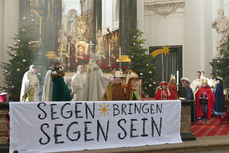
[[(20, 90), (23, 75), (31, 64), (37, 64), (41, 57), (37, 35), (34, 30), (35, 23), (19, 24), (19, 34), (13, 40), (14, 46), (9, 47), (9, 62), (1, 63), (4, 75), (4, 87), (2, 90), (9, 95), (9, 101), (20, 100)], [(36, 60), (35, 60), (36, 59)]]

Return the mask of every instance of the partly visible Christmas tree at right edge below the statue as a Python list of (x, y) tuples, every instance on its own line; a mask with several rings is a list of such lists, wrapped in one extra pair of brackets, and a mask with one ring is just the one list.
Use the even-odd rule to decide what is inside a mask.
[(217, 76), (223, 78), (224, 88), (229, 88), (229, 41), (227, 41), (226, 50), (223, 51), (221, 57), (216, 58), (210, 64)]

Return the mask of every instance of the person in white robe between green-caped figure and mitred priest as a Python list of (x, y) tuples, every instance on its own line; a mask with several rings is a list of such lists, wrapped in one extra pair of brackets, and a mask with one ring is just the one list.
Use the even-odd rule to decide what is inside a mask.
[(78, 65), (77, 73), (71, 80), (71, 89), (74, 94), (72, 101), (82, 101), (84, 96), (85, 80), (83, 79), (83, 65)]

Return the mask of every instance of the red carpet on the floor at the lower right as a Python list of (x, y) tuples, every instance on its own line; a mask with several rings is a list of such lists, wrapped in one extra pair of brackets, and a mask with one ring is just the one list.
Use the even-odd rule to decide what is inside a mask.
[(192, 124), (191, 131), (196, 137), (229, 135), (229, 124), (222, 124), (219, 117), (212, 118), (209, 125), (202, 125), (198, 120)]

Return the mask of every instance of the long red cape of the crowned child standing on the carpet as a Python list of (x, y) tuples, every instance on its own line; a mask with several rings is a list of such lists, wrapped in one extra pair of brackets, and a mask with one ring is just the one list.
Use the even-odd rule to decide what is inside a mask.
[(211, 112), (212, 109), (214, 107), (214, 102), (215, 102), (215, 95), (213, 94), (211, 88), (209, 86), (207, 87), (201, 87), (195, 97), (196, 97), (196, 116), (197, 117), (201, 117), (203, 116), (202, 110), (201, 110), (201, 104), (200, 104), (200, 97), (202, 95), (202, 93), (204, 92), (204, 90), (206, 91), (207, 97), (208, 97), (208, 119), (211, 119)]

